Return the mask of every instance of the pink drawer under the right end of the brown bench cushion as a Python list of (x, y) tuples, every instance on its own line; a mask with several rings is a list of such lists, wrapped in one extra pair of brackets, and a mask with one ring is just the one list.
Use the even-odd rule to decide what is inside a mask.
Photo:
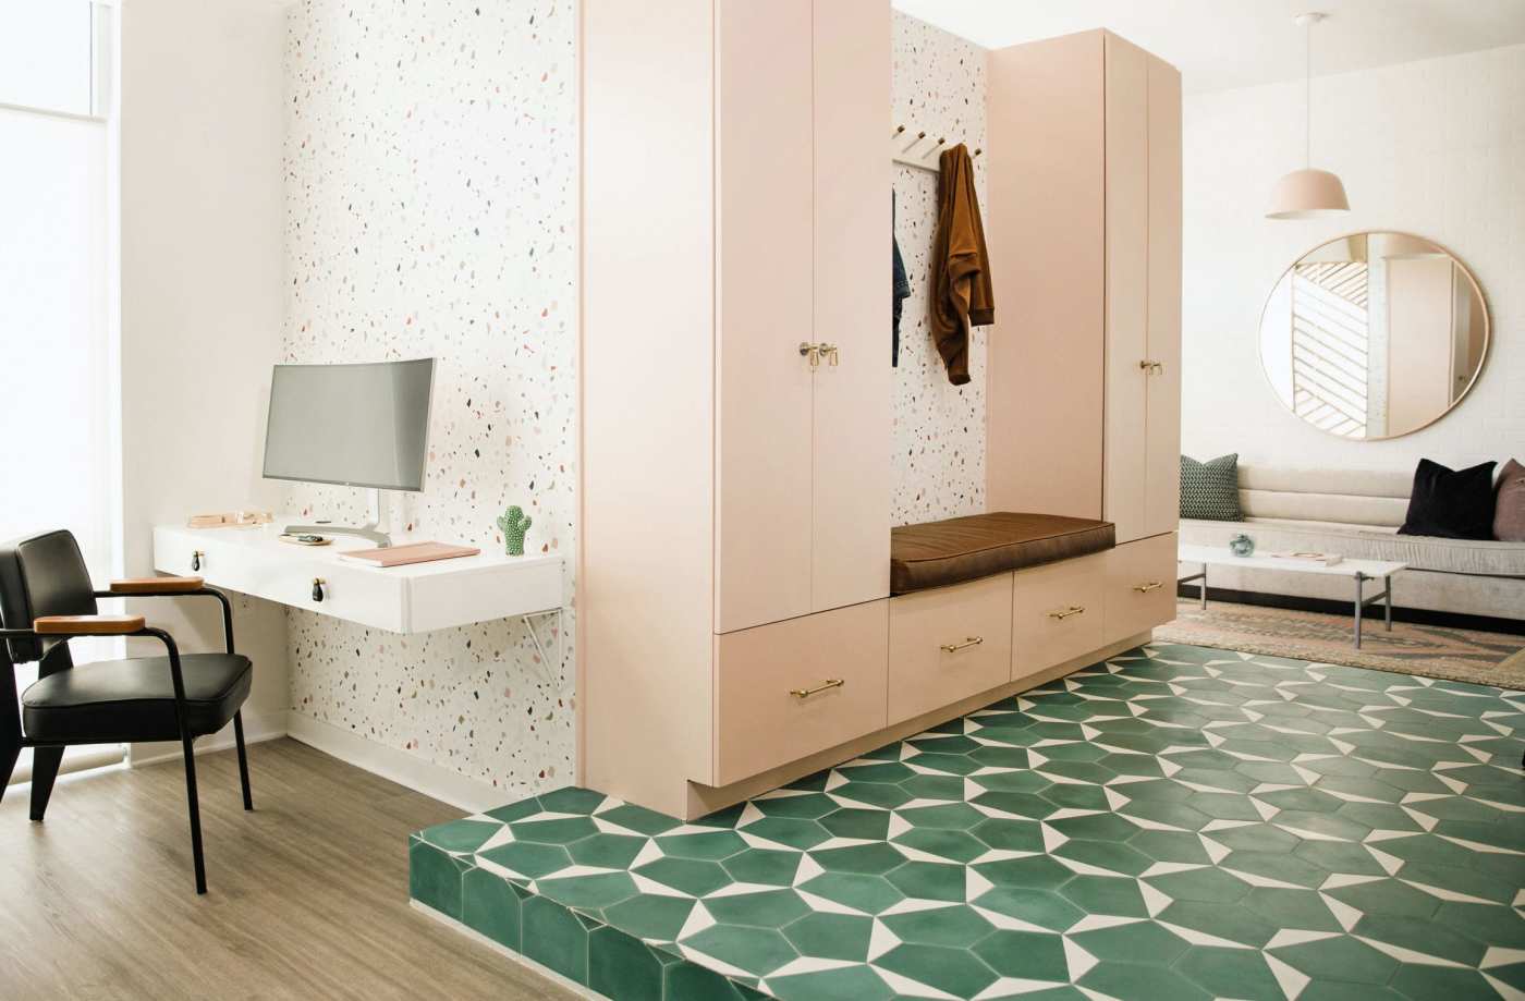
[(1011, 681), (1106, 645), (1106, 554), (1017, 571), (1011, 578)]

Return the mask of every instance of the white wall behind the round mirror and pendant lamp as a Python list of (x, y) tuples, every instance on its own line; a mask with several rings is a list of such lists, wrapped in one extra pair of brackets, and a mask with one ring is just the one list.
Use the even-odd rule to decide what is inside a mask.
[[(1264, 218), (1302, 165), (1302, 82), (1188, 96), (1182, 450), (1241, 462), (1412, 470), (1525, 453), (1525, 46), (1313, 82), (1315, 166), (1350, 192), (1344, 218)], [(1359, 229), (1427, 237), (1482, 285), (1493, 346), (1449, 417), (1392, 441), (1318, 432), (1276, 401), (1257, 352), (1260, 311), (1304, 252)]]

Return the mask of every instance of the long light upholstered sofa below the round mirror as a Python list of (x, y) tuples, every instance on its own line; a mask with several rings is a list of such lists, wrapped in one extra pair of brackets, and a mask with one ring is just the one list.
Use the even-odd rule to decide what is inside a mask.
[[(1412, 475), (1363, 470), (1240, 467), (1243, 520), (1180, 520), (1180, 540), (1226, 546), (1240, 533), (1257, 551), (1315, 549), (1360, 560), (1401, 560), (1394, 604), (1525, 620), (1525, 542), (1400, 536)], [(1212, 568), (1228, 591), (1350, 600), (1348, 581), (1313, 574)]]

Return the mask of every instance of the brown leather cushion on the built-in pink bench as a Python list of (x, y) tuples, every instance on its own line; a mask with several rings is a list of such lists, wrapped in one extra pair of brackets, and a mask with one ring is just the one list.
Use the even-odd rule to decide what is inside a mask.
[(1115, 545), (1112, 522), (1061, 514), (994, 511), (901, 525), (889, 534), (889, 591), (958, 584)]

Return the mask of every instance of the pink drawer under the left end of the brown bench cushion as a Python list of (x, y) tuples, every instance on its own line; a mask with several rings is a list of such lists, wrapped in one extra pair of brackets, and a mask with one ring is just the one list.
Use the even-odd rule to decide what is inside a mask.
[(889, 722), (1011, 679), (1011, 574), (889, 601)]

